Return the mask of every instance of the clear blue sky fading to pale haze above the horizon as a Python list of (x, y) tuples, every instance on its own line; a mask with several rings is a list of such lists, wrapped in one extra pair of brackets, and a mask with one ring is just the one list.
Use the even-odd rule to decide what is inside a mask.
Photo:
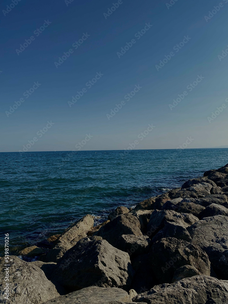
[(0, 6), (1, 152), (228, 144), (228, 0)]

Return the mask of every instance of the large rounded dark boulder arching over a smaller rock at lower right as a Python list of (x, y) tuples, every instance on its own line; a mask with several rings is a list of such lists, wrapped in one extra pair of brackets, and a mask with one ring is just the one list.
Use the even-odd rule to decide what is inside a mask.
[(184, 265), (194, 266), (204, 275), (210, 275), (210, 261), (198, 246), (174, 237), (154, 243), (150, 249), (150, 262), (160, 283), (171, 283), (174, 271)]

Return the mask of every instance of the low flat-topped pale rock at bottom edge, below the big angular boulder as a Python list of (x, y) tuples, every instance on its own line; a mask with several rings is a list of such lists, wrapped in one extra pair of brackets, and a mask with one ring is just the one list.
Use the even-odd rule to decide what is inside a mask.
[(43, 304), (107, 304), (109, 302), (131, 302), (130, 295), (121, 288), (91, 286), (60, 296)]

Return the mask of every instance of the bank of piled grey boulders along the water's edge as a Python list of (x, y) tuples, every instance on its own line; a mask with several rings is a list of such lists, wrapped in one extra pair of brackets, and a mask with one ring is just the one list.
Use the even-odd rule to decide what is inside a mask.
[(0, 259), (0, 302), (227, 304), (227, 198), (228, 164), (134, 209), (120, 206), (98, 226), (86, 215), (51, 237), (47, 252), (20, 251), (38, 261)]

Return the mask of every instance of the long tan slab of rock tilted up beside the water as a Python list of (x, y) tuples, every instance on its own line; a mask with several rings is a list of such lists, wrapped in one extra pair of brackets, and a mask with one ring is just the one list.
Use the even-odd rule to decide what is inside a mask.
[(93, 224), (94, 219), (90, 214), (72, 224), (60, 235), (54, 247), (47, 253), (44, 259), (42, 258), (42, 261), (57, 262), (67, 250), (75, 245), (75, 242), (86, 236), (86, 233), (92, 228)]

